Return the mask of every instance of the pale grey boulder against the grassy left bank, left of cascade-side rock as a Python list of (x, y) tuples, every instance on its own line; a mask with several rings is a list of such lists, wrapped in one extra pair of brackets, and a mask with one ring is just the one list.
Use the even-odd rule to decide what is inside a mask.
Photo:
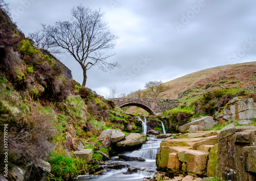
[(125, 137), (125, 135), (120, 130), (108, 129), (108, 130), (104, 130), (100, 134), (98, 140), (103, 140), (103, 138), (106, 136), (111, 137), (111, 143), (116, 143)]

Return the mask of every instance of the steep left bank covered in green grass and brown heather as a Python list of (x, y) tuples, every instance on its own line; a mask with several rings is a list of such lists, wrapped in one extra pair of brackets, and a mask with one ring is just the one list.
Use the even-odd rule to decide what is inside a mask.
[[(12, 168), (27, 168), (40, 160), (51, 164), (52, 177), (93, 173), (103, 158), (99, 151), (115, 153), (97, 136), (108, 128), (125, 134), (135, 132), (134, 117), (62, 76), (56, 63), (25, 38), (1, 8), (0, 20), (0, 155), (5, 128), (10, 171), (7, 179), (17, 180)], [(78, 145), (93, 150), (93, 162), (74, 157)], [(0, 157), (0, 167), (3, 174), (4, 157)]]

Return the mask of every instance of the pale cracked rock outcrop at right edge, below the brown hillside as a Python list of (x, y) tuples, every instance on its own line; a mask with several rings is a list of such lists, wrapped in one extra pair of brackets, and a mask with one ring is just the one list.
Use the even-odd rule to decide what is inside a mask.
[(233, 101), (232, 104), (224, 110), (225, 119), (234, 121), (256, 118), (256, 102), (253, 97), (242, 97), (231, 101)]

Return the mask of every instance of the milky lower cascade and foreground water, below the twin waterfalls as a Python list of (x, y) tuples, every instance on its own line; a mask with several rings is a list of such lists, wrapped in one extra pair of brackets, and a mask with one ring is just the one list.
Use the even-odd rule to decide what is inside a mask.
[[(142, 121), (143, 122), (143, 121)], [(130, 157), (142, 157), (146, 161), (145, 162), (123, 162), (123, 161), (115, 161), (115, 163), (125, 163), (129, 164), (132, 167), (138, 168), (137, 173), (132, 174), (123, 174), (127, 172), (128, 168), (122, 168), (119, 170), (109, 170), (108, 172), (104, 172), (102, 175), (94, 176), (91, 178), (83, 178), (83, 176), (79, 176), (76, 180), (84, 181), (113, 181), (113, 180), (133, 180), (133, 181), (142, 181), (143, 177), (154, 177), (156, 172), (156, 153), (159, 151), (160, 143), (162, 139), (156, 139), (156, 136), (147, 137), (147, 142), (145, 142), (141, 149), (135, 151), (127, 151), (122, 152), (122, 154)], [(117, 157), (113, 157), (114, 160)], [(113, 161), (112, 161), (113, 162)]]

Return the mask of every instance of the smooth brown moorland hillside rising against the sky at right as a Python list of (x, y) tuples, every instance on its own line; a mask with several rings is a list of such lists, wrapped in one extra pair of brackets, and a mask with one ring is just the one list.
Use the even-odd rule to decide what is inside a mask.
[(207, 68), (164, 83), (170, 88), (163, 98), (177, 98), (178, 93), (187, 89), (218, 89), (223, 87), (247, 88), (256, 84), (256, 62), (246, 62)]

